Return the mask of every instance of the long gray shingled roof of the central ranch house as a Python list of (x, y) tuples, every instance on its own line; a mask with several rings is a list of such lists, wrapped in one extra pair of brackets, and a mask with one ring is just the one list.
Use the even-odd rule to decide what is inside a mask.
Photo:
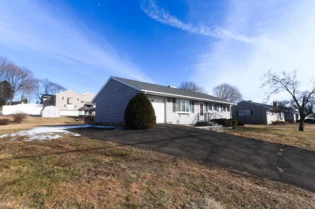
[(169, 97), (182, 97), (182, 98), (198, 99), (201, 101), (204, 100), (204, 101), (212, 101), (212, 102), (221, 102), (224, 104), (235, 104), (235, 103), (231, 103), (226, 100), (222, 100), (220, 98), (217, 98), (208, 94), (202, 94), (202, 93), (197, 93), (193, 91), (187, 91), (183, 89), (177, 89), (177, 88), (172, 88), (168, 86), (162, 86), (162, 85), (146, 83), (146, 82), (141, 82), (141, 81), (136, 81), (136, 80), (130, 80), (126, 78), (118, 78), (118, 77), (111, 77), (111, 78), (116, 81), (122, 82), (130, 87), (136, 88), (142, 92), (150, 92), (150, 93), (155, 93), (155, 94), (159, 93), (161, 95), (165, 95)]

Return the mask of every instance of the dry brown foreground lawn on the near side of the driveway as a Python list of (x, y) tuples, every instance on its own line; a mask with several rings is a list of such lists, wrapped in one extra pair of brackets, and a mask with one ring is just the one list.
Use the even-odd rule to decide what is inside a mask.
[(315, 194), (236, 170), (65, 134), (45, 141), (0, 139), (0, 208), (315, 208)]

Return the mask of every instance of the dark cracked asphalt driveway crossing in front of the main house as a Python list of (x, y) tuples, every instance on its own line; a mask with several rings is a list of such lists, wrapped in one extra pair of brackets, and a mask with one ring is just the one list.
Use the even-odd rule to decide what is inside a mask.
[(187, 126), (71, 129), (90, 138), (216, 164), (315, 192), (315, 152)]

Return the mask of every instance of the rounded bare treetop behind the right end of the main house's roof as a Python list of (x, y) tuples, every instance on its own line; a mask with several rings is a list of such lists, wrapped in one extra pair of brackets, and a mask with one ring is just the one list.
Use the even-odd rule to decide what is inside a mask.
[(232, 86), (228, 83), (221, 83), (220, 85), (212, 89), (213, 94), (222, 99), (232, 103), (236, 103), (243, 99), (243, 95), (236, 86)]

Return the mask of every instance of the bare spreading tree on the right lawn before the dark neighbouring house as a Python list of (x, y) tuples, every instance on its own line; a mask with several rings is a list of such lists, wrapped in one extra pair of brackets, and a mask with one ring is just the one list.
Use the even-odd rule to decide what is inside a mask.
[(287, 104), (300, 113), (300, 125), (299, 131), (304, 131), (304, 119), (314, 113), (315, 107), (315, 82), (313, 81), (313, 88), (306, 91), (298, 90), (300, 81), (297, 80), (296, 71), (291, 73), (281, 72), (280, 75), (269, 71), (264, 74), (264, 80), (261, 87), (269, 85), (270, 91), (266, 92), (268, 95), (267, 99), (269, 100), (272, 94), (277, 94), (279, 92), (288, 92), (292, 99), (283, 101), (284, 104)]

